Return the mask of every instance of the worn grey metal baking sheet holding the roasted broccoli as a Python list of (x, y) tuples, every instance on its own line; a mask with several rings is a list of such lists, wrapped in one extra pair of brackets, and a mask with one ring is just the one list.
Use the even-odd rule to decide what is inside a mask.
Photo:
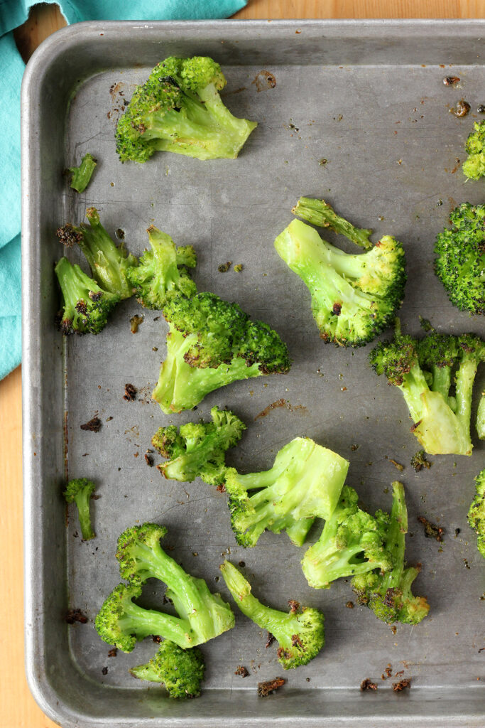
[[(318, 338), (308, 292), (278, 258), (273, 240), (292, 220), (300, 195), (325, 197), (358, 226), (374, 229), (374, 240), (393, 234), (404, 242), (406, 331), (419, 331), (421, 314), (442, 331), (483, 333), (482, 320), (449, 304), (432, 261), (434, 237), (452, 207), (483, 202), (483, 184), (465, 183), (458, 160), (485, 100), (484, 33), (485, 23), (476, 20), (81, 23), (51, 36), (28, 64), (22, 101), (26, 655), (33, 695), (63, 727), (483, 725), (484, 571), (466, 523), (483, 444), (475, 442), (472, 458), (430, 457), (430, 470), (415, 473), (409, 460), (418, 443), (400, 392), (369, 370), (369, 347), (338, 349)], [(145, 165), (119, 163), (113, 132), (124, 100), (172, 54), (220, 61), (225, 103), (259, 122), (237, 161), (158, 154)], [(260, 90), (261, 71), (273, 74), (276, 85)], [(444, 85), (449, 74), (460, 77), (457, 87)], [(450, 113), (461, 97), (472, 106), (465, 119)], [(98, 166), (78, 195), (62, 172), (87, 151)], [(177, 245), (194, 245), (199, 290), (237, 301), (273, 325), (289, 346), (291, 372), (238, 382), (213, 392), (197, 411), (165, 416), (151, 401), (166, 333), (157, 312), (124, 301), (100, 336), (63, 339), (53, 325), (53, 264), (61, 254), (55, 229), (81, 221), (89, 205), (109, 232), (124, 231), (137, 255), (150, 223)], [(79, 251), (70, 256), (80, 261)], [(244, 271), (220, 274), (225, 261)], [(135, 313), (144, 320), (132, 334)], [(138, 389), (135, 402), (123, 399), (127, 382)], [(475, 400), (483, 387), (484, 372)], [(286, 407), (257, 418), (281, 398)], [(345, 580), (330, 590), (310, 589), (300, 569), (303, 549), (285, 534), (264, 534), (244, 550), (231, 533), (224, 494), (198, 480), (164, 480), (147, 466), (145, 450), (157, 427), (207, 416), (215, 404), (248, 425), (229, 457), (242, 470), (269, 467), (284, 443), (308, 435), (348, 458), (348, 483), (370, 509), (390, 507), (391, 481), (404, 481), (407, 558), (422, 562), (415, 591), (430, 602), (422, 624), (398, 625), (394, 633), (364, 607), (347, 609), (353, 593)], [(100, 432), (81, 431), (95, 414)], [(98, 483), (92, 542), (81, 542), (75, 518), (66, 528), (66, 475)], [(445, 529), (442, 545), (425, 539), (418, 515)], [(225, 556), (244, 561), (263, 601), (285, 609), (296, 598), (322, 609), (324, 651), (284, 673), (284, 688), (262, 700), (257, 681), (284, 670), (235, 607), (236, 629), (203, 647), (207, 679), (199, 700), (177, 703), (163, 689), (133, 680), (128, 668), (156, 646), (145, 641), (132, 654), (108, 657), (93, 621), (119, 582), (116, 538), (137, 521), (164, 523), (172, 555), (226, 598), (218, 580)], [(160, 596), (151, 585), (146, 603)], [(68, 627), (68, 606), (85, 612), (89, 623)], [(244, 680), (234, 675), (241, 664), (250, 673)], [(404, 670), (412, 678), (409, 692), (395, 694), (393, 679), (380, 679), (388, 664), (393, 674)], [(375, 694), (359, 690), (367, 677), (379, 684)]]

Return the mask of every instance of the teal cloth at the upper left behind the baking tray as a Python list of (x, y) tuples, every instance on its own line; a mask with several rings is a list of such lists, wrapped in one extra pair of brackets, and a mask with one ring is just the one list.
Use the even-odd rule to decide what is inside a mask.
[[(53, 2), (54, 0), (47, 0)], [(0, 379), (20, 364), (20, 82), (24, 63), (12, 30), (36, 0), (0, 0)], [(211, 20), (246, 0), (59, 0), (68, 23), (81, 20)]]

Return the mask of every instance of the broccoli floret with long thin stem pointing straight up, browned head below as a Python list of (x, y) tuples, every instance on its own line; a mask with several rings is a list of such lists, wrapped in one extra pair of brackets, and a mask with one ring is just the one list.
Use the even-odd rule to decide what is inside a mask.
[(352, 579), (352, 587), (358, 603), (372, 609), (382, 622), (403, 622), (417, 625), (429, 612), (425, 597), (413, 596), (412, 582), (420, 573), (421, 566), (404, 569), (404, 540), (407, 533), (407, 510), (404, 486), (393, 483), (393, 506), (386, 525), (385, 547), (391, 555), (393, 566), (385, 574), (376, 571), (358, 574)]

